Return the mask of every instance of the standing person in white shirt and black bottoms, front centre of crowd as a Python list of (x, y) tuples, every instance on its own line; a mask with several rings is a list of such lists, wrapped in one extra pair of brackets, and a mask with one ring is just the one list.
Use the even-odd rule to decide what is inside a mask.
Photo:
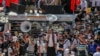
[(47, 56), (56, 56), (57, 36), (54, 34), (52, 28), (50, 28), (46, 34), (46, 41)]

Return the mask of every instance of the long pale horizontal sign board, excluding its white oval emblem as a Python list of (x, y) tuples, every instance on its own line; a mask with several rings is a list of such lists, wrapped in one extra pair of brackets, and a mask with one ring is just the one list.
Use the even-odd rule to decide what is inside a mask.
[[(34, 20), (34, 21), (48, 21), (46, 15), (17, 15), (17, 16), (9, 16), (8, 20)], [(73, 14), (57, 14), (57, 21), (73, 21), (75, 19), (75, 15)]]

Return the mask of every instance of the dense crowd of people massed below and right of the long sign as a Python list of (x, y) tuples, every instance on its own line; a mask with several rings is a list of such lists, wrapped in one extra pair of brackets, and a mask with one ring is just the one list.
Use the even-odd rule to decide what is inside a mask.
[(37, 38), (28, 33), (14, 33), (0, 37), (0, 55), (5, 56), (99, 56), (99, 12), (81, 11), (74, 25), (62, 25), (63, 30), (54, 32), (50, 27), (41, 31)]

